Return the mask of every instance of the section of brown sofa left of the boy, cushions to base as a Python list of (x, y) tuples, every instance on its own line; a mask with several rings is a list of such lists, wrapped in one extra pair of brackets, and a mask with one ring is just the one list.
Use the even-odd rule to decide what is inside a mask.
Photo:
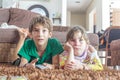
[[(7, 23), (21, 28), (28, 28), (33, 17), (40, 14), (18, 8), (1, 8), (0, 25)], [(19, 40), (15, 28), (0, 27), (0, 62), (11, 62), (15, 59), (14, 50)]]

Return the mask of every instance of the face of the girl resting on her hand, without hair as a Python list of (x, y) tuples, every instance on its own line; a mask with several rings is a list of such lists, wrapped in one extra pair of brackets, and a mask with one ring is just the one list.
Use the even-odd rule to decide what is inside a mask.
[(70, 39), (69, 43), (74, 49), (75, 56), (80, 56), (84, 52), (87, 45), (85, 39), (79, 31), (74, 33), (73, 39)]

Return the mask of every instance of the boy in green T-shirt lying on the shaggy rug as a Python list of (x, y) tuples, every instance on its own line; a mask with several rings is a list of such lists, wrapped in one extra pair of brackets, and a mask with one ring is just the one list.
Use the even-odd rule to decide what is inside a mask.
[(31, 39), (25, 40), (27, 30), (18, 28), (20, 40), (16, 53), (21, 57), (20, 67), (42, 64), (50, 69), (59, 68), (59, 54), (63, 52), (63, 48), (57, 39), (51, 38), (52, 28), (51, 21), (43, 16), (32, 20), (29, 27)]

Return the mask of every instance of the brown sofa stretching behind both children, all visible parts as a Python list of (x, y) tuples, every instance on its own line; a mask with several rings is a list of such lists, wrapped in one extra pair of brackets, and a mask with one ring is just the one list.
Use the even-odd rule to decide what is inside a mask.
[[(0, 25), (6, 22), (8, 25), (15, 25), (21, 28), (28, 28), (30, 21), (33, 17), (40, 14), (18, 9), (0, 9)], [(59, 41), (64, 44), (69, 26), (53, 26), (53, 36), (58, 38)], [(96, 34), (89, 33), (88, 37), (90, 43), (97, 47), (99, 45), (99, 39)], [(15, 58), (15, 48), (19, 41), (19, 34), (15, 28), (0, 28), (0, 62), (12, 62)]]

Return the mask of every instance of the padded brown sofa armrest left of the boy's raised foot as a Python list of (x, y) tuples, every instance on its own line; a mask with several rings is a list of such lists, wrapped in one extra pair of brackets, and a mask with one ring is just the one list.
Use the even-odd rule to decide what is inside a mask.
[(0, 43), (17, 43), (19, 40), (19, 33), (16, 29), (0, 28)]

